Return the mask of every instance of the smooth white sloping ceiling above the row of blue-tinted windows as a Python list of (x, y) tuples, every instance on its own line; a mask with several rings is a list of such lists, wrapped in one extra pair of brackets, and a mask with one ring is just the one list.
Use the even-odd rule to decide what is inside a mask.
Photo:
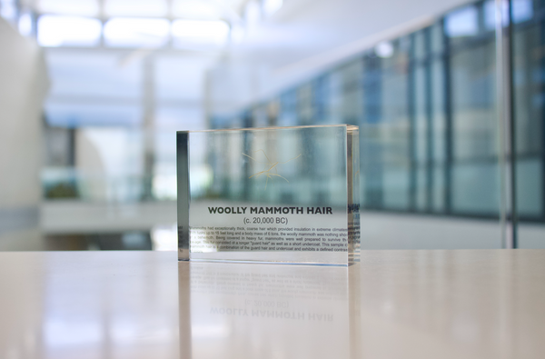
[[(231, 45), (215, 76), (222, 91), (217, 102), (241, 108), (301, 83), (383, 40), (423, 28), (468, 0), (285, 0), (274, 15), (247, 28)], [(226, 84), (218, 85), (224, 82)]]

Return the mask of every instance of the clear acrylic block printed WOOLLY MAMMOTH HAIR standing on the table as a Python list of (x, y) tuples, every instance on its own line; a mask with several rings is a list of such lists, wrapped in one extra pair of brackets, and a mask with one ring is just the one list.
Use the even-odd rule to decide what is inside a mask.
[(352, 125), (177, 133), (178, 259), (359, 261)]

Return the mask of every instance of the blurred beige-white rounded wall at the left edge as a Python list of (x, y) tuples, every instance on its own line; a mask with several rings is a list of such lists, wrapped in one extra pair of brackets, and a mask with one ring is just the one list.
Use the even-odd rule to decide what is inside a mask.
[(0, 250), (39, 249), (45, 62), (3, 18), (0, 49)]

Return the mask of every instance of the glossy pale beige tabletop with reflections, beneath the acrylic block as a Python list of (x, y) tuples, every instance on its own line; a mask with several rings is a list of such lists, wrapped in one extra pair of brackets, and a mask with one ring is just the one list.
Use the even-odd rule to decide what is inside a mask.
[(0, 253), (0, 358), (542, 358), (545, 250)]

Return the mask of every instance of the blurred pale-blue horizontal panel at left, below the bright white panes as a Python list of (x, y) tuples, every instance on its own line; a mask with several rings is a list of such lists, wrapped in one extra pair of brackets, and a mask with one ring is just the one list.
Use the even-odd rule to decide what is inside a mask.
[(49, 101), (45, 105), (45, 119), (59, 127), (135, 126), (142, 122), (138, 105), (65, 104)]

